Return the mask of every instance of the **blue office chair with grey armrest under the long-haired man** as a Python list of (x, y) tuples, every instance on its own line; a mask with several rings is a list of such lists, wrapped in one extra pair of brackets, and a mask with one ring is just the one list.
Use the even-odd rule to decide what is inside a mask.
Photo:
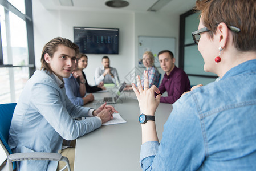
[(64, 161), (66, 166), (62, 168), (70, 171), (70, 164), (67, 157), (62, 156), (59, 153), (13, 153), (8, 145), (9, 129), (11, 126), (11, 119), (13, 118), (13, 112), (16, 107), (16, 103), (0, 104), (0, 144), (7, 156), (7, 170), (15, 170), (18, 168), (16, 161), (24, 160), (52, 160), (52, 161)]

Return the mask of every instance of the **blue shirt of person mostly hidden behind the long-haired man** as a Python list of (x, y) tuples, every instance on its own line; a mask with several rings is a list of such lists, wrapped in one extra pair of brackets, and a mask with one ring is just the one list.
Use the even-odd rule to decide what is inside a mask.
[(84, 105), (84, 100), (79, 91), (80, 86), (76, 81), (76, 78), (71, 74), (69, 78), (63, 78), (63, 80), (68, 99), (70, 99), (73, 104)]

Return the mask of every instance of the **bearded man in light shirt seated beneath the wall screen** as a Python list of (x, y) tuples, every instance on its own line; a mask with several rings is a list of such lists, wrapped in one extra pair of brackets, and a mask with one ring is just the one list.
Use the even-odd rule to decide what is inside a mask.
[(96, 68), (95, 70), (95, 82), (100, 84), (103, 81), (104, 84), (119, 82), (116, 68), (110, 67), (110, 61), (108, 56), (102, 58), (103, 66)]

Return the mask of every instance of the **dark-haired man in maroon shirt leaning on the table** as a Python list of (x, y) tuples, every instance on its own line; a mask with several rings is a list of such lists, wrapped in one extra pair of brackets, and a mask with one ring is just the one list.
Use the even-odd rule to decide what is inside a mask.
[(168, 93), (168, 96), (161, 97), (160, 102), (173, 104), (181, 97), (182, 93), (190, 91), (188, 75), (182, 69), (175, 66), (175, 58), (171, 51), (161, 51), (157, 56), (161, 68), (165, 72), (162, 83), (159, 86), (160, 94), (165, 91)]

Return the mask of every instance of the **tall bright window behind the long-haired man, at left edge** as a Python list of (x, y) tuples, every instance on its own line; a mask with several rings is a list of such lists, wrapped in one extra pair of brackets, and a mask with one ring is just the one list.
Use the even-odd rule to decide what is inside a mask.
[(0, 45), (0, 103), (14, 103), (35, 71), (31, 0), (0, 1)]

